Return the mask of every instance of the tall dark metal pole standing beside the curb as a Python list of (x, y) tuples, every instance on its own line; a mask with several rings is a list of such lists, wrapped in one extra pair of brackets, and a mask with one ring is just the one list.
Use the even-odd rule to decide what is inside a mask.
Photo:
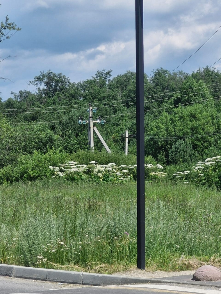
[(136, 1), (136, 121), (137, 121), (137, 267), (145, 269), (144, 167), (144, 22), (143, 0)]

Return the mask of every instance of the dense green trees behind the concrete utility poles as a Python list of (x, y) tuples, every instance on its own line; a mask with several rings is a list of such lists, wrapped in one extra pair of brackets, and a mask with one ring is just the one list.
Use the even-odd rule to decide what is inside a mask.
[[(125, 156), (121, 163), (117, 157), (123, 158), (125, 130), (136, 134), (134, 72), (111, 78), (111, 70), (102, 70), (91, 79), (72, 83), (61, 73), (47, 71), (30, 83), (36, 87), (34, 93), (11, 92), (10, 98), (0, 102), (0, 168), (16, 166), (20, 156), (52, 149), (81, 164), (88, 164), (89, 158), (100, 164), (127, 164)], [(150, 77), (145, 75), (144, 84), (145, 155), (150, 159), (146, 163), (189, 164), (220, 155), (220, 71), (206, 67), (186, 74), (161, 68)], [(106, 121), (96, 126), (116, 154), (114, 160), (102, 159), (104, 148), (96, 135), (97, 157), (87, 152), (88, 125), (78, 125), (77, 120), (88, 118), (89, 103), (98, 108), (94, 119), (101, 116)], [(128, 153), (136, 155), (135, 138), (129, 139)], [(75, 159), (79, 154), (81, 158)], [(136, 158), (128, 161), (135, 164)]]

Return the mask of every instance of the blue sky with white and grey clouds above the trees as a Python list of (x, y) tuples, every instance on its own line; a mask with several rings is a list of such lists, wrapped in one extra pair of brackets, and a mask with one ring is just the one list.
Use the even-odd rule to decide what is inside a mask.
[[(135, 71), (135, 0), (1, 0), (22, 30), (0, 44), (0, 92), (28, 88), (40, 71), (65, 74), (72, 82), (113, 70)], [(144, 71), (173, 70), (221, 25), (220, 0), (144, 0)], [(191, 73), (221, 58), (221, 29), (178, 70)], [(221, 60), (215, 64), (221, 70)], [(29, 90), (34, 91), (31, 86)]]

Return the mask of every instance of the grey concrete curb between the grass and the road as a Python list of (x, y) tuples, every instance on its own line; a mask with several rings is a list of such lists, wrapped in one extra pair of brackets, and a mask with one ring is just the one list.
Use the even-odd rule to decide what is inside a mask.
[(42, 280), (48, 282), (70, 283), (80, 285), (126, 285), (126, 284), (146, 284), (146, 283), (173, 283), (198, 285), (206, 287), (217, 287), (220, 285), (200, 283), (200, 282), (185, 282), (150, 278), (134, 278), (121, 275), (104, 275), (84, 272), (73, 272), (68, 270), (51, 270), (44, 268), (29, 268), (25, 266), (0, 264), (0, 275), (9, 276), (12, 278), (25, 278), (33, 280)]

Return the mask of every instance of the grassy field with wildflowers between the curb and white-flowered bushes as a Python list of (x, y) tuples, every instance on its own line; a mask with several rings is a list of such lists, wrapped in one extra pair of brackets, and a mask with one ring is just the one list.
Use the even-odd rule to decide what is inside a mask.
[[(220, 263), (221, 192), (146, 184), (146, 267)], [(1, 263), (113, 273), (136, 265), (136, 183), (0, 186)]]

